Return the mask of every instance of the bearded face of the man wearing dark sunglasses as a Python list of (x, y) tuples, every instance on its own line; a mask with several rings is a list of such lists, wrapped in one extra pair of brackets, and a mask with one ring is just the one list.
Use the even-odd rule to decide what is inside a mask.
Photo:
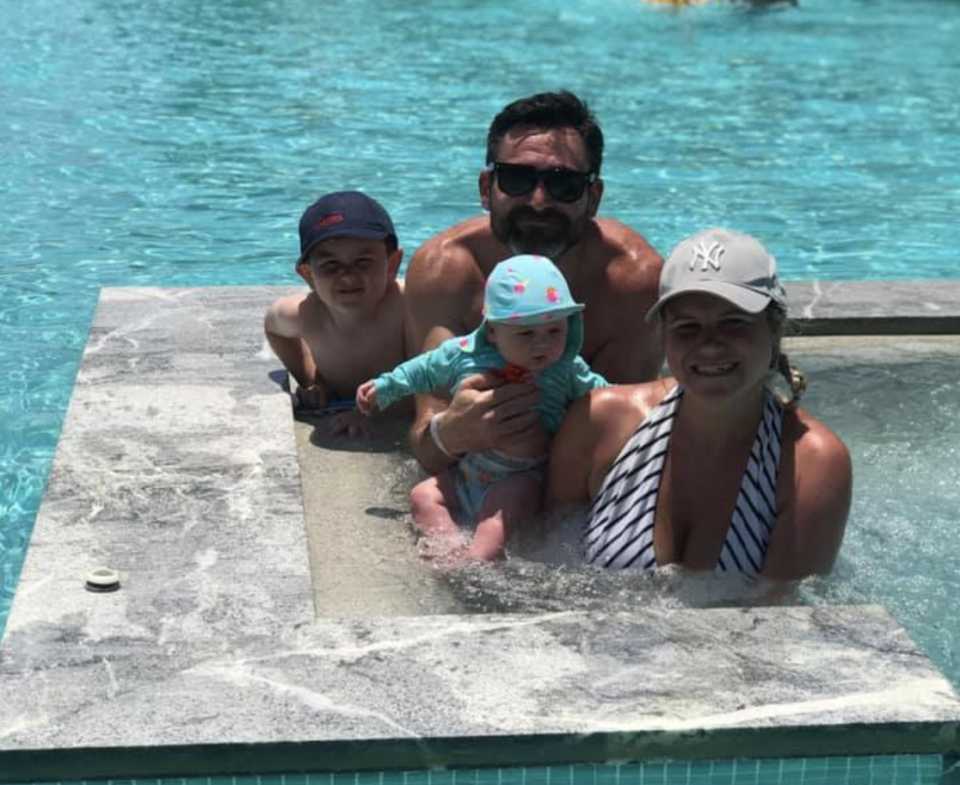
[[(583, 139), (572, 128), (513, 128), (500, 142), (495, 160), (541, 171), (587, 173), (590, 168)], [(541, 177), (528, 193), (511, 196), (498, 183), (496, 173), (484, 171), (480, 175), (480, 199), (490, 211), (493, 233), (515, 254), (557, 259), (583, 238), (602, 193), (602, 183), (597, 180), (588, 184), (575, 201), (561, 201), (550, 193)]]

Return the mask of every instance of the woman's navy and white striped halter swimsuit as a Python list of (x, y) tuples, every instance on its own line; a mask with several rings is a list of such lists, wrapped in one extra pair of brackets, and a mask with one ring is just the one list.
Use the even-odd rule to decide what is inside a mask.
[[(653, 522), (670, 432), (680, 407), (677, 385), (634, 431), (607, 472), (590, 507), (583, 536), (590, 564), (610, 569), (657, 566)], [(763, 417), (740, 483), (733, 520), (720, 550), (717, 571), (758, 573), (777, 517), (777, 469), (783, 410), (767, 391)]]

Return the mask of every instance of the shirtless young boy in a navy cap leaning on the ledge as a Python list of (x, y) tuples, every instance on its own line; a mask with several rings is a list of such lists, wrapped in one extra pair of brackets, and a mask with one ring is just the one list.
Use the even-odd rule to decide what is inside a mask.
[(273, 303), (263, 328), (300, 407), (338, 412), (331, 433), (369, 434), (357, 386), (403, 361), (402, 259), (390, 216), (358, 191), (327, 194), (300, 219), (296, 269), (310, 290)]

